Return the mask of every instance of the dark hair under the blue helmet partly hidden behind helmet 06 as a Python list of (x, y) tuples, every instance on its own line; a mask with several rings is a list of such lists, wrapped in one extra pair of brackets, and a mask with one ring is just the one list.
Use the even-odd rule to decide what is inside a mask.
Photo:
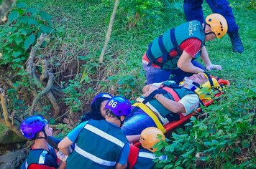
[(86, 112), (84, 116), (81, 118), (81, 122), (85, 122), (88, 120), (105, 120), (104, 117), (101, 115), (101, 103), (105, 100), (109, 100), (109, 98), (101, 97), (95, 100), (91, 104), (91, 112)]

